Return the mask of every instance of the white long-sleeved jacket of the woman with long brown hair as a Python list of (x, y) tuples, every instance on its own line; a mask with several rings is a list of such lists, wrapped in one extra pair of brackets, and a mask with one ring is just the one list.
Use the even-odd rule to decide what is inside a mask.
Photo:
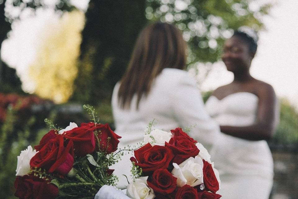
[[(117, 84), (112, 96), (112, 109), (115, 121), (115, 133), (122, 136), (119, 147), (136, 145), (144, 139), (144, 130), (148, 123), (157, 119), (156, 126), (169, 132), (176, 127), (188, 127), (196, 125), (189, 136), (202, 143), (210, 152), (213, 143), (219, 134), (219, 125), (210, 118), (207, 113), (196, 81), (188, 72), (165, 68), (155, 79), (148, 95), (143, 97), (136, 109), (136, 96), (132, 99), (130, 109), (122, 109), (118, 106)], [(132, 154), (122, 156), (119, 163), (111, 166), (114, 174), (119, 178), (118, 187), (126, 188), (128, 182), (122, 175), (125, 174), (131, 181)], [(212, 157), (212, 156), (211, 156)]]

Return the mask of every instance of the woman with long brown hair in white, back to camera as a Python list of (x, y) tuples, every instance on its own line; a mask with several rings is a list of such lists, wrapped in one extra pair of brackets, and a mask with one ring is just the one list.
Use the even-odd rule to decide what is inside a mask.
[[(120, 148), (144, 139), (144, 130), (153, 118), (156, 128), (168, 131), (196, 125), (190, 136), (208, 150), (216, 140), (219, 126), (209, 117), (196, 81), (183, 68), (186, 43), (174, 25), (156, 22), (140, 33), (126, 73), (114, 88), (113, 116)], [(112, 168), (118, 187), (128, 185), (132, 155), (124, 155)]]

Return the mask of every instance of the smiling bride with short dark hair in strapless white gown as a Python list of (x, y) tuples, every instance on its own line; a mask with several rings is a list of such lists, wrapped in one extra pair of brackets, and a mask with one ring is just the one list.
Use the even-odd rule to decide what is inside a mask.
[(222, 199), (268, 199), (273, 185), (273, 159), (265, 140), (278, 121), (272, 86), (251, 77), (257, 44), (236, 31), (224, 44), (222, 59), (234, 81), (219, 87), (206, 102), (221, 132), (213, 161), (219, 170)]

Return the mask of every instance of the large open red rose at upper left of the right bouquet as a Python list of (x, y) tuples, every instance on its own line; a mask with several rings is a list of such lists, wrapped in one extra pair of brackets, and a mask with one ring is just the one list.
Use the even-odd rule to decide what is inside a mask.
[(130, 160), (141, 167), (144, 173), (153, 172), (156, 169), (166, 169), (174, 158), (172, 150), (168, 147), (151, 146), (150, 143), (135, 150), (134, 155), (135, 158), (131, 157)]

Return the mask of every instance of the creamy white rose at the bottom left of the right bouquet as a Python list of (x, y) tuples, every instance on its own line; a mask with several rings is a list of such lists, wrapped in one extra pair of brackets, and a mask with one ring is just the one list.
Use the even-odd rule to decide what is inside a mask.
[(126, 195), (132, 199), (153, 199), (155, 197), (153, 189), (148, 187), (146, 177), (139, 177), (135, 182), (130, 183), (126, 189)]

